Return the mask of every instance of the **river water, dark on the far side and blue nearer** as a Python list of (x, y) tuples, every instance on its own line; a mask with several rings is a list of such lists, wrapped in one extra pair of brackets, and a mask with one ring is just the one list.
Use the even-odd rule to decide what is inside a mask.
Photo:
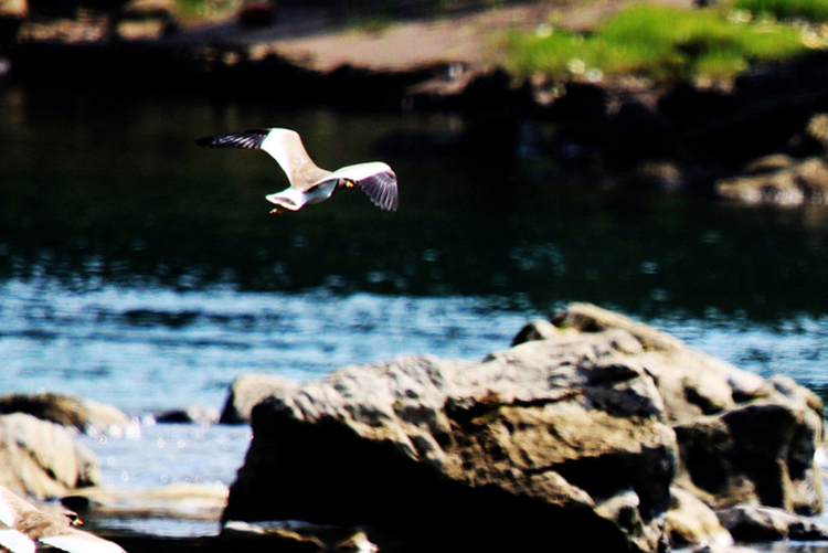
[[(264, 195), (285, 187), (274, 161), (193, 143), (262, 126), (299, 130), (322, 167), (388, 161), (400, 211), (342, 192), (268, 215)], [(72, 392), (136, 415), (221, 407), (244, 372), (478, 359), (573, 300), (828, 384), (827, 210), (606, 189), (580, 161), (533, 155), (551, 132), (0, 85), (0, 393)], [(130, 461), (178, 432), (92, 446), (112, 485), (232, 480), (246, 435), (231, 430), (181, 438), (195, 453), (174, 474)], [(222, 440), (225, 462), (202, 467)]]

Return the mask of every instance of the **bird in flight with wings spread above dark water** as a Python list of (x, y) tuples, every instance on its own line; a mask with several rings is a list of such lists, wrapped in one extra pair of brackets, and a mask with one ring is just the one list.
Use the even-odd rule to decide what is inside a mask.
[(341, 188), (359, 187), (378, 208), (396, 211), (396, 176), (381, 161), (358, 163), (336, 171), (320, 169), (311, 161), (299, 134), (289, 129), (254, 129), (195, 140), (211, 148), (265, 150), (282, 166), (290, 187), (265, 196), (278, 205), (270, 213), (297, 211), (306, 203), (327, 200)]

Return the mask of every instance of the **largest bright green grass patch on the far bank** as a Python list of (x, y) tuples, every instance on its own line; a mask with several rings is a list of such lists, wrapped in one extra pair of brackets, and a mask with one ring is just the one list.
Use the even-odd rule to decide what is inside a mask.
[(734, 19), (723, 9), (633, 6), (593, 34), (512, 33), (506, 49), (509, 64), (523, 75), (634, 74), (658, 82), (729, 79), (752, 64), (807, 51), (799, 28)]

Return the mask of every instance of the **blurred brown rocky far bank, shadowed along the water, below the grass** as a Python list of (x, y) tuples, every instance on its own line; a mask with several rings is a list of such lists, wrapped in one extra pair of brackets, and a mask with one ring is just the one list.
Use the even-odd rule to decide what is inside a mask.
[[(689, 1), (662, 1), (692, 9)], [(174, 22), (164, 2), (135, 0), (108, 19), (84, 12), (85, 19), (43, 21), (7, 12), (6, 28), (17, 40), (7, 39), (6, 50), (11, 75), (23, 82), (458, 111), (477, 123), (464, 131), (474, 136), (455, 142), (508, 136), (518, 142), (512, 150), (563, 160), (605, 185), (688, 191), (749, 204), (828, 201), (828, 55), (822, 51), (753, 67), (732, 83), (527, 79), (502, 68), (493, 44), (507, 29), (532, 29), (548, 21), (553, 8), (561, 26), (588, 29), (625, 3), (509, 4), (408, 14), (375, 25), (288, 3), (255, 25), (238, 14), (187, 28)], [(527, 121), (537, 124), (530, 130), (553, 124), (555, 131), (528, 131)]]

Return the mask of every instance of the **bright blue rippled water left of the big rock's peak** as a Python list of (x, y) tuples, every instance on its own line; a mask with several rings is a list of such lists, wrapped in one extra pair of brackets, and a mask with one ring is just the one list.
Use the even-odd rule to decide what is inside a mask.
[(433, 353), (478, 359), (508, 348), (526, 315), (469, 298), (177, 293), (117, 286), (74, 294), (0, 285), (8, 390), (76, 393), (140, 413), (223, 405), (240, 374), (318, 377), (348, 364)]

